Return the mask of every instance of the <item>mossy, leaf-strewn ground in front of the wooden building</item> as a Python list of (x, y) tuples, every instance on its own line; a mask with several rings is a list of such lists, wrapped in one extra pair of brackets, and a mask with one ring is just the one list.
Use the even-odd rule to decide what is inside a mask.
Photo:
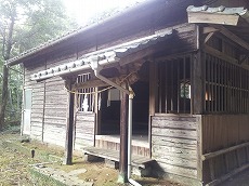
[[(25, 138), (26, 140), (26, 138)], [(35, 149), (35, 157), (31, 158), (30, 150)], [(86, 169), (84, 173), (77, 176), (91, 182), (94, 186), (118, 186), (118, 170), (106, 168), (104, 162), (87, 162), (83, 157), (74, 156), (73, 165), (63, 165), (61, 162), (64, 156), (64, 149), (58, 146), (48, 146), (36, 141), (24, 141), (19, 136), (16, 128), (11, 128), (4, 133), (0, 133), (0, 186), (5, 185), (61, 185), (55, 180), (34, 171), (30, 164), (43, 164), (44, 167), (56, 171), (69, 173), (75, 170)], [(56, 159), (50, 159), (55, 158)], [(60, 161), (58, 161), (60, 160)], [(50, 162), (50, 163), (48, 163)], [(35, 176), (35, 177), (34, 177)], [(165, 180), (152, 177), (134, 177), (145, 186), (180, 186)], [(38, 182), (39, 181), (39, 182)], [(120, 184), (124, 186), (128, 184)]]

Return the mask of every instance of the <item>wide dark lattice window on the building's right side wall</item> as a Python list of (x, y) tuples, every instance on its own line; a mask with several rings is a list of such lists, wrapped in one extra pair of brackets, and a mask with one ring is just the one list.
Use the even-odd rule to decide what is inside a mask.
[(249, 70), (205, 54), (205, 111), (249, 112)]

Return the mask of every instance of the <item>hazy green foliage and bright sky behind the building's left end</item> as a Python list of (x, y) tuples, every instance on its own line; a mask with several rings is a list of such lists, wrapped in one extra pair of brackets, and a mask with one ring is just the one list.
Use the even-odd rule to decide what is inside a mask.
[[(0, 0), (1, 84), (5, 59), (76, 28), (65, 12), (62, 0)], [(13, 122), (21, 120), (23, 69), (21, 65), (11, 68), (5, 119)]]

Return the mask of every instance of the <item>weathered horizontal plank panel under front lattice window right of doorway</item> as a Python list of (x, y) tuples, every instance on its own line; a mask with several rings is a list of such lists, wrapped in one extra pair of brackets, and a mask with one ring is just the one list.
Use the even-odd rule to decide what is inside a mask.
[(167, 173), (197, 178), (197, 118), (191, 115), (153, 117), (152, 158)]

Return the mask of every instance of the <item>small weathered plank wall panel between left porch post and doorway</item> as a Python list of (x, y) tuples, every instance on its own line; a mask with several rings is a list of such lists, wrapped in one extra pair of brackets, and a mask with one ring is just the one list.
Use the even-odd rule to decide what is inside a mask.
[(94, 146), (95, 114), (78, 111), (75, 120), (75, 149)]

